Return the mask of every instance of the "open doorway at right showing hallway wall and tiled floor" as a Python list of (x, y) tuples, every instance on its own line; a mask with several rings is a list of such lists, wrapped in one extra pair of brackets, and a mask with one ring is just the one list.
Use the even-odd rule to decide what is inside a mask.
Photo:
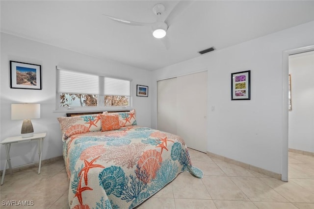
[(290, 55), (289, 75), (288, 177), (306, 181), (314, 177), (314, 51)]

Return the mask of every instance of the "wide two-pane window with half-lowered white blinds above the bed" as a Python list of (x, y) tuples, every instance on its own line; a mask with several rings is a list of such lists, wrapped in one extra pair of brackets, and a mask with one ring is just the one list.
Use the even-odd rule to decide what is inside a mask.
[(57, 68), (57, 109), (131, 108), (131, 80)]

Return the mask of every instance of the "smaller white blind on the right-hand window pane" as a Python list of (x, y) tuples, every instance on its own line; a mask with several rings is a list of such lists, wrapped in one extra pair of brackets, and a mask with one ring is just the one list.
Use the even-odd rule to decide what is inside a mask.
[(105, 95), (130, 96), (131, 81), (105, 77), (104, 83)]

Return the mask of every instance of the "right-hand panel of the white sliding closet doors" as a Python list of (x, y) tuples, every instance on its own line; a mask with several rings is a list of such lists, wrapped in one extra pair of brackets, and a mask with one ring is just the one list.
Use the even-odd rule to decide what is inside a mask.
[(207, 71), (177, 77), (177, 135), (207, 152)]

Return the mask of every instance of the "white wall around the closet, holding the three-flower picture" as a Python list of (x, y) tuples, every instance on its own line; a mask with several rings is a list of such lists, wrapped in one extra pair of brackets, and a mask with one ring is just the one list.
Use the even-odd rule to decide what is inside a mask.
[[(313, 44), (314, 22), (301, 24), (155, 70), (152, 92), (157, 95), (157, 80), (207, 69), (207, 150), (281, 174), (288, 140), (283, 139), (283, 51)], [(244, 70), (251, 70), (251, 100), (232, 101), (231, 73)], [(154, 128), (157, 96), (152, 105)]]

